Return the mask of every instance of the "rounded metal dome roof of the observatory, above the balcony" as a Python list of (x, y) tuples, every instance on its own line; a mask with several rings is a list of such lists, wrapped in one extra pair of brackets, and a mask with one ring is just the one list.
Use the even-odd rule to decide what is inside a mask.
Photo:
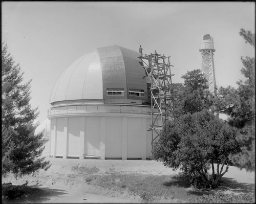
[(82, 100), (97, 103), (138, 103), (147, 101), (145, 70), (138, 52), (109, 46), (83, 55), (60, 74), (52, 89), (50, 103)]

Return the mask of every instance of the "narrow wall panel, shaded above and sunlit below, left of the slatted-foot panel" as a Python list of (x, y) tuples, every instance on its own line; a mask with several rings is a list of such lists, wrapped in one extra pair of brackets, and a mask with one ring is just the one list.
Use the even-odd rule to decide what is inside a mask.
[(69, 156), (80, 155), (80, 117), (69, 118)]

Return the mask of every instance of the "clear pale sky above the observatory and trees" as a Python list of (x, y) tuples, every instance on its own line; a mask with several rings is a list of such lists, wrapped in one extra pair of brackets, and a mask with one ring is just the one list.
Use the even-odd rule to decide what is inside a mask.
[(2, 2), (2, 42), (31, 82), (40, 122), (60, 73), (95, 48), (118, 46), (170, 56), (173, 83), (201, 69), (200, 43), (214, 37), (217, 86), (244, 80), (241, 56), (254, 49), (239, 35), (255, 33), (255, 2)]

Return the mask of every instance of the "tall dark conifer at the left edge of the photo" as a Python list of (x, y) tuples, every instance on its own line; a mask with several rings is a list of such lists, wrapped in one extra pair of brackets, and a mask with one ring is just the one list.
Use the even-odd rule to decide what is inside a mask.
[(42, 134), (34, 135), (37, 108), (30, 105), (31, 80), (23, 84), (24, 72), (2, 44), (2, 174), (15, 176), (47, 170), (49, 161), (40, 157)]

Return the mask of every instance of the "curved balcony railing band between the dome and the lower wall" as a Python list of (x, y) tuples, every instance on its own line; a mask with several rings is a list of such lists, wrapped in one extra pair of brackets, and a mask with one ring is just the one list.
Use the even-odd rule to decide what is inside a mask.
[(150, 107), (115, 106), (115, 105), (76, 105), (55, 107), (48, 110), (48, 116), (62, 114), (151, 114)]

